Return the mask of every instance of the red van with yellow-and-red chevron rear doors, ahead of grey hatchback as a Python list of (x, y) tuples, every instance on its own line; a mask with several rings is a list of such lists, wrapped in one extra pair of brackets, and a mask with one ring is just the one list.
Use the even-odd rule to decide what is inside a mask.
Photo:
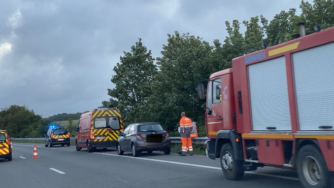
[(123, 132), (123, 120), (116, 108), (98, 108), (80, 116), (76, 134), (76, 149), (87, 147), (90, 153), (96, 148), (116, 147), (118, 133)]

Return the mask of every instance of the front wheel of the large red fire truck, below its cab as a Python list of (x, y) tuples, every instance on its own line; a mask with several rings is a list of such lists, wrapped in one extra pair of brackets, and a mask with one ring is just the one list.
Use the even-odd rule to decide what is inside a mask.
[(225, 143), (221, 147), (220, 166), (226, 179), (239, 180), (244, 176), (243, 162), (235, 159), (233, 147), (230, 143)]

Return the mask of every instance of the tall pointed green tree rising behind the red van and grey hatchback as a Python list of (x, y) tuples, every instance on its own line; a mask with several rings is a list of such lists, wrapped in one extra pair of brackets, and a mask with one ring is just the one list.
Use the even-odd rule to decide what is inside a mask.
[(151, 95), (150, 83), (157, 72), (151, 50), (143, 46), (142, 39), (131, 47), (130, 52), (124, 51), (120, 63), (114, 67), (115, 75), (111, 82), (114, 89), (108, 89), (112, 98), (103, 101), (103, 107), (118, 107), (125, 122), (142, 121), (140, 111)]

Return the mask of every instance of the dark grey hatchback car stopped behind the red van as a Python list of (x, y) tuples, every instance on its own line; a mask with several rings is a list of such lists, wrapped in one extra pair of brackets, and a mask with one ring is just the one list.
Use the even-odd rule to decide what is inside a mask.
[(159, 123), (145, 122), (128, 125), (124, 132), (118, 134), (117, 153), (131, 152), (133, 157), (139, 153), (163, 151), (165, 155), (171, 153), (171, 138)]

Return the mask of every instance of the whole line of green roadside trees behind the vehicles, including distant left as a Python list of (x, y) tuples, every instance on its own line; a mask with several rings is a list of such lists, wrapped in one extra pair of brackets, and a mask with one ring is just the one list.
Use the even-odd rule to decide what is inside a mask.
[[(262, 15), (242, 22), (226, 21), (225, 40), (214, 40), (213, 45), (199, 36), (175, 31), (167, 34), (161, 57), (152, 57), (151, 50), (139, 38), (114, 66), (111, 82), (115, 88), (108, 89), (111, 98), (103, 101), (101, 107), (119, 108), (125, 125), (159, 122), (172, 136), (178, 136), (180, 114), (185, 111), (187, 117), (197, 122), (199, 136), (205, 136), (205, 101), (197, 98), (197, 81), (230, 68), (233, 58), (260, 50), (262, 43), (274, 46), (291, 40), (291, 35), (299, 32), (299, 22), (306, 23), (307, 32), (312, 32), (316, 24), (322, 29), (334, 26), (334, 0), (314, 0), (313, 4), (302, 1), (299, 8), (300, 15), (296, 15), (296, 9), (290, 9), (281, 11), (271, 21)], [(52, 122), (70, 124), (81, 114), (42, 118), (27, 106), (11, 105), (0, 111), (0, 129), (7, 130), (11, 137), (43, 137)]]

